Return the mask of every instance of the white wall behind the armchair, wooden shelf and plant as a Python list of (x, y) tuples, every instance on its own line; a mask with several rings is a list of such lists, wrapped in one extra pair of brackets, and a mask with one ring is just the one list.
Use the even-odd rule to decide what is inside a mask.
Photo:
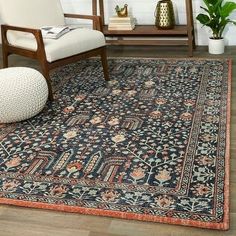
[[(154, 12), (157, 2), (158, 0), (104, 0), (106, 21), (109, 16), (115, 14), (114, 8), (116, 5), (122, 6), (127, 3), (129, 12), (134, 15), (139, 24), (154, 24)], [(185, 24), (185, 0), (172, 0), (172, 2), (175, 9), (176, 23)], [(197, 45), (207, 45), (209, 30), (205, 27), (202, 28), (199, 22), (195, 20), (197, 13), (200, 11), (200, 5), (203, 5), (202, 0), (192, 0), (192, 2), (196, 43)], [(81, 14), (91, 14), (92, 12), (92, 0), (61, 0), (61, 3), (65, 12)], [(232, 15), (232, 18), (236, 19), (236, 12)], [(86, 23), (89, 24), (88, 22)], [(229, 26), (225, 32), (226, 45), (236, 45), (235, 35), (236, 27)]]

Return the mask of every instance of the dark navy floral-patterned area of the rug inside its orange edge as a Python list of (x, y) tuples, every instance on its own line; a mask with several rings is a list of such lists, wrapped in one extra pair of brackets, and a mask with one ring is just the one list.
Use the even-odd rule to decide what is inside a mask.
[(0, 125), (0, 197), (221, 224), (228, 67), (110, 59), (109, 82), (97, 59), (58, 70), (54, 102)]

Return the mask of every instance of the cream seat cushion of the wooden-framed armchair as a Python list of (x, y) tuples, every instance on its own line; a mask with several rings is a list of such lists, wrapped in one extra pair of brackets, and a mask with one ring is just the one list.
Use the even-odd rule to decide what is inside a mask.
[[(37, 44), (30, 33), (8, 33), (8, 41), (13, 46), (18, 46), (36, 51)], [(46, 58), (53, 62), (65, 57), (83, 53), (105, 45), (102, 32), (92, 29), (77, 28), (62, 35), (58, 39), (44, 39)]]

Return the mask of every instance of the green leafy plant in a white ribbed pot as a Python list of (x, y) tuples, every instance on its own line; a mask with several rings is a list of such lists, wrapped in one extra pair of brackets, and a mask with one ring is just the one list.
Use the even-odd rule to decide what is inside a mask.
[(236, 21), (231, 20), (229, 16), (236, 10), (236, 3), (227, 0), (203, 0), (206, 7), (202, 7), (206, 14), (200, 13), (196, 19), (212, 31), (209, 38), (209, 53), (224, 53), (223, 33), (226, 25), (232, 23), (236, 25)]

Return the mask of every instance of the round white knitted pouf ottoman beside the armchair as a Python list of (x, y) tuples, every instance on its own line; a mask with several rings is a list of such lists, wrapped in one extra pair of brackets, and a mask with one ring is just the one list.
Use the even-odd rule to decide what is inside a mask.
[(38, 114), (48, 98), (43, 75), (27, 67), (0, 69), (0, 123), (12, 123)]

